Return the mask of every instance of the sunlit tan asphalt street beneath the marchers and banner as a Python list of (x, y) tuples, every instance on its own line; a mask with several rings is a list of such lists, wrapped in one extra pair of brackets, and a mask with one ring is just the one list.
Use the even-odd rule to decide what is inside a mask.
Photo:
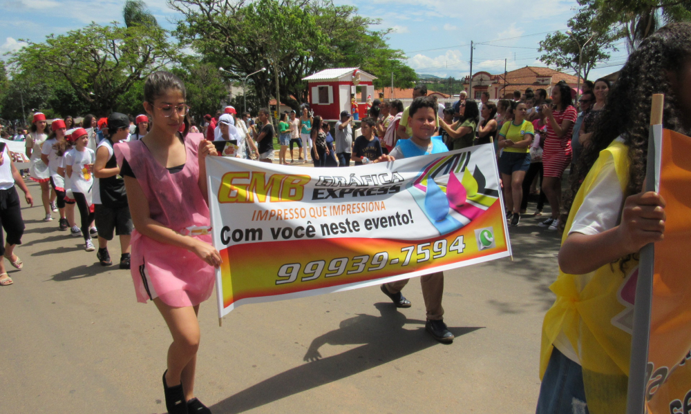
[[(23, 208), (24, 268), (6, 261), (15, 284), (0, 287), (0, 412), (164, 413), (162, 317), (136, 302), (129, 270), (100, 266), (43, 211)], [(449, 345), (424, 331), (417, 279), (408, 309), (375, 286), (240, 306), (223, 327), (212, 295), (199, 315), (196, 395), (229, 414), (534, 412), (559, 244), (537, 222), (511, 228), (513, 259), (446, 272)], [(117, 262), (117, 237), (109, 250)]]

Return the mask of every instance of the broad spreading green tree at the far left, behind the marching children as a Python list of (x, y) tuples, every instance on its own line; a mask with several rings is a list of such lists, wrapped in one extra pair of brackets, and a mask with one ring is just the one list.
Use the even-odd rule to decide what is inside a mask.
[(98, 115), (111, 112), (144, 75), (180, 60), (167, 32), (152, 26), (91, 23), (67, 34), (51, 34), (44, 43), (26, 43), (10, 58), (17, 72), (40, 72), (65, 81)]

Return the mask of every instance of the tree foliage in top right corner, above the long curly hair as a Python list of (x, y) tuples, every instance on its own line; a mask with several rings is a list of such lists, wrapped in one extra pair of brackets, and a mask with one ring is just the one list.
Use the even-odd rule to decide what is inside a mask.
[(691, 21), (691, 0), (579, 0), (594, 14), (596, 30), (618, 29), (629, 50), (650, 36), (663, 23)]

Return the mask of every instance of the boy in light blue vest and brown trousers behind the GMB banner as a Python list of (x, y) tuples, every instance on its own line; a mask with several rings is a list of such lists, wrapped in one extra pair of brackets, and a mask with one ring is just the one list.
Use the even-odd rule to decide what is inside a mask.
[[(437, 105), (433, 99), (415, 98), (408, 108), (408, 115), (410, 117), (408, 126), (412, 134), (410, 139), (399, 139), (388, 156), (391, 161), (448, 151), (441, 137), (432, 136), (435, 134), (437, 121)], [(384, 157), (387, 156), (384, 155), (382, 158)], [(410, 308), (410, 302), (401, 294), (408, 280), (410, 279), (381, 285), (381, 291), (393, 301), (397, 308)], [(420, 284), (422, 284), (422, 297), (427, 311), (425, 329), (439, 342), (453, 342), (453, 333), (448, 331), (442, 319), (444, 316), (444, 308), (442, 308), (444, 273), (435, 272), (424, 275), (420, 277)]]

